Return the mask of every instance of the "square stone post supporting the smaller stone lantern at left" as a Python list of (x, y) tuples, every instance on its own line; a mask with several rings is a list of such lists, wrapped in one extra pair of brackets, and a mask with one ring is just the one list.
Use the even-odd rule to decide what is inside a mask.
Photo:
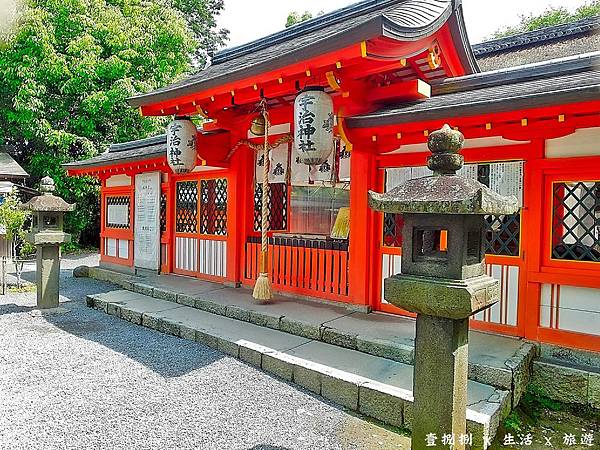
[(40, 245), (37, 248), (37, 307), (58, 308), (60, 280), (60, 248), (58, 245)]

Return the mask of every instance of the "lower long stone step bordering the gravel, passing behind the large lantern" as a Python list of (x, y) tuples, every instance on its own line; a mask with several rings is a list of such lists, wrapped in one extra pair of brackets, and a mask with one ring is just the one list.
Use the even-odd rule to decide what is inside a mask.
[[(410, 429), (411, 365), (128, 290), (90, 295), (87, 303), (134, 324), (216, 348), (338, 405)], [(510, 393), (469, 381), (468, 403), (473, 448), (487, 448), (510, 411)]]

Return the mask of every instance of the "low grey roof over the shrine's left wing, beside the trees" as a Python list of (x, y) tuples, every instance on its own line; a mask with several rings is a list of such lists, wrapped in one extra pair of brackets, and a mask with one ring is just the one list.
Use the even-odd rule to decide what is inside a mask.
[(88, 169), (116, 163), (144, 161), (165, 155), (166, 145), (166, 134), (123, 144), (113, 144), (106, 153), (85, 161), (63, 164), (63, 167), (66, 169)]

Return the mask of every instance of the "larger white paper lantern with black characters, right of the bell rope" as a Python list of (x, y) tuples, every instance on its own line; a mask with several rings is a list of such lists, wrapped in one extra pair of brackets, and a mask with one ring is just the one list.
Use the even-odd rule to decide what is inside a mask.
[(307, 88), (294, 102), (294, 146), (300, 161), (322, 164), (333, 151), (333, 101), (322, 88)]

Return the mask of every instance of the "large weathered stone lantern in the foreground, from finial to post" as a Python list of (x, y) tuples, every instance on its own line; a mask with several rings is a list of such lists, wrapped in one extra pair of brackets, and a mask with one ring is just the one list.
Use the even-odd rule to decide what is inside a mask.
[(384, 297), (417, 314), (413, 450), (426, 448), (428, 435), (441, 443), (450, 434), (453, 448), (465, 448), (459, 437), (466, 435), (469, 317), (500, 298), (485, 271), (485, 215), (518, 210), (515, 197), (456, 175), (463, 144), (463, 135), (445, 125), (429, 136), (433, 176), (369, 193), (371, 208), (404, 218), (402, 273), (385, 280)]

